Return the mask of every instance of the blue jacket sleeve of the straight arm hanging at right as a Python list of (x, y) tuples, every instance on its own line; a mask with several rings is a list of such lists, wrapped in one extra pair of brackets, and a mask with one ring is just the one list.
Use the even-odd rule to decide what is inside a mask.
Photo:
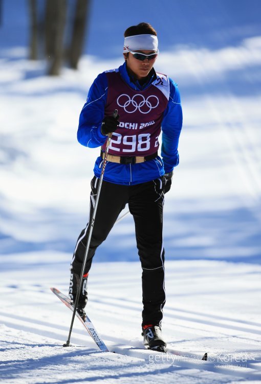
[(178, 144), (182, 128), (182, 108), (180, 92), (176, 83), (169, 79), (170, 94), (167, 108), (165, 109), (161, 129), (162, 145), (161, 156), (165, 173), (173, 171), (179, 164)]

